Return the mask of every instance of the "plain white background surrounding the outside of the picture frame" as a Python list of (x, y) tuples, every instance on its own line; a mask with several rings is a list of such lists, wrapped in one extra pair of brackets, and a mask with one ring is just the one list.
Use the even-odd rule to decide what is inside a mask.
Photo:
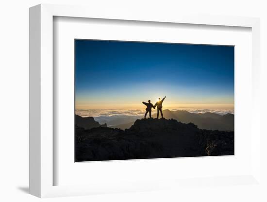
[[(0, 200), (37, 201), (28, 191), (28, 8), (38, 3), (84, 4), (101, 11), (105, 6), (126, 7), (136, 10), (151, 9), (158, 12), (188, 10), (188, 13), (261, 17), (262, 86), (266, 86), (267, 61), (267, 6), (264, 0), (186, 0), (186, 1), (102, 1), (89, 0), (9, 0), (0, 4)], [(264, 68), (265, 67), (265, 68)], [(265, 79), (265, 80), (264, 80)], [(266, 87), (262, 88), (262, 121), (267, 120)], [(265, 105), (264, 105), (265, 104)], [(265, 121), (263, 121), (264, 123)], [(265, 127), (262, 124), (262, 127)], [(267, 142), (263, 137), (262, 142)], [(267, 170), (266, 148), (262, 148)], [(266, 174), (262, 172), (266, 181)], [(267, 190), (267, 188), (265, 188)], [(181, 192), (143, 192), (86, 197), (46, 199), (48, 201), (267, 201), (265, 190), (255, 187), (210, 186)]]

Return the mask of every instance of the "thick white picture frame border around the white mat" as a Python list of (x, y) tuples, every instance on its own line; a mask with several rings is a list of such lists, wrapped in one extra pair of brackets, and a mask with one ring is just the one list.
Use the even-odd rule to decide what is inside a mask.
[[(201, 183), (233, 185), (229, 181), (239, 179), (246, 184), (259, 184), (260, 177), (260, 20), (252, 17), (159, 15), (131, 12), (129, 10), (105, 10), (93, 8), (40, 4), (30, 8), (30, 194), (37, 197), (88, 195), (94, 193), (117, 193), (127, 191), (162, 190), (167, 187), (197, 184), (192, 179), (162, 180), (154, 183), (136, 182), (114, 185), (113, 182), (92, 185), (55, 186), (53, 183), (53, 17), (83, 17), (100, 19), (136, 20), (162, 23), (186, 23), (213, 26), (249, 27), (252, 30), (252, 107), (251, 140), (252, 172), (245, 176), (229, 176), (202, 179)], [(228, 180), (227, 180), (228, 179)]]

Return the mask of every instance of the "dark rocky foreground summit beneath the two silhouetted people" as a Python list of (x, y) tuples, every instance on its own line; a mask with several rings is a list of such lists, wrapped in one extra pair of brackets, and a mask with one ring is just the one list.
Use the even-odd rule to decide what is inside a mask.
[(125, 131), (76, 126), (76, 161), (234, 155), (234, 132), (175, 119), (137, 119)]

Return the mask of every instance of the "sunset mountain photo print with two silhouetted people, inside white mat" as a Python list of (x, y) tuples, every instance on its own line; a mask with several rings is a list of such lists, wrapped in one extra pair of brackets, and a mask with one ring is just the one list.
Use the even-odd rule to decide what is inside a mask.
[(234, 155), (234, 46), (75, 40), (75, 161)]

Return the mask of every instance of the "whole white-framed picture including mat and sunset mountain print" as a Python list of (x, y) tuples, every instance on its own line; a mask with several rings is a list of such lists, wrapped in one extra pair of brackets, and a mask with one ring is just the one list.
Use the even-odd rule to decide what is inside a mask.
[(30, 193), (260, 186), (259, 29), (30, 8)]

